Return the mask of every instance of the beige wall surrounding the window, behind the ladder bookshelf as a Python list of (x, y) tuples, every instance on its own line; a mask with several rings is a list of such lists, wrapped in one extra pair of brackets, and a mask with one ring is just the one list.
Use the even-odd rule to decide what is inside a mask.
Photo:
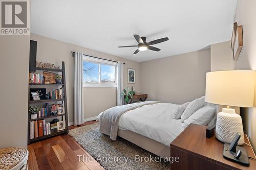
[[(37, 61), (49, 62), (59, 66), (61, 61), (65, 61), (69, 122), (73, 122), (74, 109), (74, 58), (71, 51), (80, 51), (100, 58), (124, 61), (126, 65), (124, 65), (123, 86), (128, 86), (130, 89), (135, 86), (136, 90), (140, 90), (138, 62), (35, 34), (31, 34), (31, 39), (37, 41)], [(127, 68), (136, 69), (136, 84), (127, 84)], [(116, 106), (116, 88), (84, 88), (84, 118), (97, 116), (100, 112), (113, 106)]]

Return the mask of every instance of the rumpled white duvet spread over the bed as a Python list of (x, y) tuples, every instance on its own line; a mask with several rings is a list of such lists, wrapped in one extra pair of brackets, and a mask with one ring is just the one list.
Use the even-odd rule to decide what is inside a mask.
[(127, 111), (121, 115), (118, 127), (169, 146), (184, 130), (180, 119), (173, 119), (172, 116), (172, 112), (175, 112), (178, 106), (171, 103), (158, 103)]

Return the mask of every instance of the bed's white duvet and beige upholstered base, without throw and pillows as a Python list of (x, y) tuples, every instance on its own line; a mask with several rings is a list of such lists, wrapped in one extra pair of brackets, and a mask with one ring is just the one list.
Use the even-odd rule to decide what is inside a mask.
[(154, 103), (126, 111), (119, 118), (117, 136), (158, 156), (169, 157), (169, 144), (188, 126), (172, 116), (179, 106)]

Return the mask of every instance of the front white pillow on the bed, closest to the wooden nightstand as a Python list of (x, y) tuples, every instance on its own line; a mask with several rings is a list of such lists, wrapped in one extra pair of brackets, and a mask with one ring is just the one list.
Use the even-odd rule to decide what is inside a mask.
[(186, 127), (189, 124), (197, 125), (207, 125), (212, 118), (215, 116), (215, 107), (204, 106), (201, 109), (198, 109), (194, 114), (192, 114), (188, 119), (184, 121), (182, 127)]

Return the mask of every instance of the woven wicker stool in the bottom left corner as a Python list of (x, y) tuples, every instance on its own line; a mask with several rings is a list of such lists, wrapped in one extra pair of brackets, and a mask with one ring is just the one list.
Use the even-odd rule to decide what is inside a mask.
[(0, 149), (0, 170), (25, 170), (29, 152), (24, 148), (4, 148)]

